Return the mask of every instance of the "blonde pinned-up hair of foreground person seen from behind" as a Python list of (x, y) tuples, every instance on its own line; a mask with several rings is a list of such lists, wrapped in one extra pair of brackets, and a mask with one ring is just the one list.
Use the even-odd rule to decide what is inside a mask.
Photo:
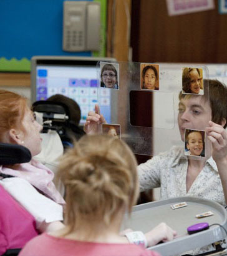
[(65, 185), (69, 232), (82, 222), (108, 227), (120, 209), (132, 210), (138, 197), (137, 161), (129, 147), (110, 135), (85, 135), (59, 164)]

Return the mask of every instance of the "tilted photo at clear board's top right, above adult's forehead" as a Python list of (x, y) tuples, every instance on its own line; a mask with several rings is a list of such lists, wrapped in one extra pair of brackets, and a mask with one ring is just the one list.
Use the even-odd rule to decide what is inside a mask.
[(182, 68), (182, 93), (203, 95), (203, 69)]

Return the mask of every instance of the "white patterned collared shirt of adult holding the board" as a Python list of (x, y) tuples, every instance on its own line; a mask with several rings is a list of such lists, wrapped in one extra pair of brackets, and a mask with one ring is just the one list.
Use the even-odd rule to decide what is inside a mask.
[(186, 174), (188, 159), (181, 147), (173, 146), (170, 151), (159, 154), (138, 166), (140, 192), (160, 187), (160, 199), (193, 196), (215, 200), (226, 205), (218, 168), (212, 157), (196, 177), (188, 193)]

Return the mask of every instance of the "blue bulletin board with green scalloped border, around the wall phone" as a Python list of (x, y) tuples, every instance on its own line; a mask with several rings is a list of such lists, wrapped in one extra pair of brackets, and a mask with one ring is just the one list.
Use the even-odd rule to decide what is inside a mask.
[(101, 7), (100, 51), (65, 52), (62, 50), (64, 0), (1, 0), (0, 71), (30, 72), (31, 57), (39, 55), (104, 57), (107, 0), (94, 1), (100, 2)]

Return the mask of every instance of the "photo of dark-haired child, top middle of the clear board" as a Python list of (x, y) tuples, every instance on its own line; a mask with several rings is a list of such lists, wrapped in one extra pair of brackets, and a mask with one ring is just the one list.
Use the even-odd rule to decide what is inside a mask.
[(140, 89), (159, 90), (159, 65), (140, 64)]

